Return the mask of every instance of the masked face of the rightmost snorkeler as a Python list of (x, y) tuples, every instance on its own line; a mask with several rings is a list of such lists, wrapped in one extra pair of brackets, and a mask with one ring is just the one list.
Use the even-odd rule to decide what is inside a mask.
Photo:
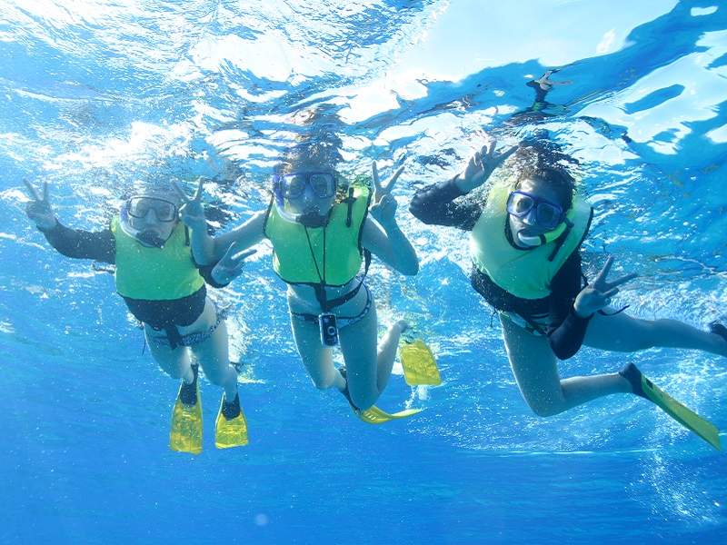
[[(560, 223), (559, 221), (553, 224), (553, 214), (560, 212), (560, 216), (563, 215), (563, 203), (560, 203), (558, 193), (549, 183), (537, 179), (525, 180), (513, 193), (508, 200), (508, 221), (512, 233), (520, 233), (528, 237), (539, 236), (553, 231)], [(528, 196), (532, 198), (528, 199)], [(549, 206), (549, 204), (553, 206)], [(530, 206), (530, 210), (522, 215), (512, 212), (518, 208), (522, 208), (524, 211), (528, 206)]]

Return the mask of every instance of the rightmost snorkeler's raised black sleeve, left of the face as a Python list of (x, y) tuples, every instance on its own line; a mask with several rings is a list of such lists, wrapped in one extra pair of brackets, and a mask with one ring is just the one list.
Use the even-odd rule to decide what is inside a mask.
[(464, 194), (454, 179), (427, 185), (414, 193), (409, 212), (429, 225), (447, 225), (472, 231), (483, 212), (483, 203), (455, 201)]

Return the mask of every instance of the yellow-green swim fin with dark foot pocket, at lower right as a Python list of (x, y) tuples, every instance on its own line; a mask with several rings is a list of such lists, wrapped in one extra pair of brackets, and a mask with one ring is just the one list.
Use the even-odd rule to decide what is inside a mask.
[(642, 372), (633, 363), (627, 364), (619, 374), (631, 382), (633, 393), (652, 401), (682, 426), (699, 435), (718, 451), (722, 450), (720, 431), (711, 421), (703, 419), (699, 414), (676, 401), (671, 395), (643, 376)]

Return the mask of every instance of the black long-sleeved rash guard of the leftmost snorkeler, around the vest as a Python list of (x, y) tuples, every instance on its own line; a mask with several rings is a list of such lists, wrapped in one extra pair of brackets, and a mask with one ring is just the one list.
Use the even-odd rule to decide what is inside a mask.
[[(81, 231), (77, 229), (69, 229), (60, 222), (55, 223), (55, 227), (46, 231), (40, 230), (45, 235), (45, 239), (58, 251), (66, 257), (76, 259), (93, 259), (101, 263), (116, 263), (116, 242), (114, 233), (111, 229), (104, 231)], [(192, 251), (190, 249), (190, 259), (194, 263)], [(200, 266), (194, 263), (199, 269), (204, 281), (215, 288), (224, 287), (212, 278), (212, 269), (214, 264)], [(192, 295), (182, 297), (181, 299), (151, 301), (146, 299), (132, 299), (124, 297), (124, 302), (129, 312), (134, 314), (139, 322), (148, 323), (155, 329), (163, 329), (170, 324), (174, 325), (192, 325), (197, 318), (204, 312), (204, 302), (207, 290), (204, 284)]]

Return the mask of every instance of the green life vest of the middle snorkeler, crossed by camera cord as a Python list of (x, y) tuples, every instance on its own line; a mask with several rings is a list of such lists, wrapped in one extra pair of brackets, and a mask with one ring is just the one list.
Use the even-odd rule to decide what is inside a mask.
[(354, 279), (363, 262), (361, 236), (371, 192), (353, 189), (334, 205), (324, 227), (285, 220), (270, 203), (264, 234), (273, 243), (273, 269), (284, 282), (343, 286)]

